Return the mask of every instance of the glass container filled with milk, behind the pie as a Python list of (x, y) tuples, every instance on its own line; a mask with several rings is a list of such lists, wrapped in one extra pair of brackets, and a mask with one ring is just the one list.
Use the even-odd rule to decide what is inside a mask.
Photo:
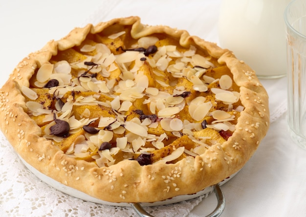
[(220, 46), (248, 64), (259, 78), (286, 75), (284, 9), (290, 0), (222, 0)]

